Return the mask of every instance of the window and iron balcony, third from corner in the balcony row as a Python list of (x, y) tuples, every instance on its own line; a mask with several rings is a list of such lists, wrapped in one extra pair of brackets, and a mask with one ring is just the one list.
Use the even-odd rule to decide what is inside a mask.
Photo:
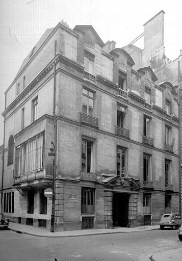
[(151, 133), (151, 118), (143, 117), (143, 143), (153, 147), (153, 138), (150, 136)]

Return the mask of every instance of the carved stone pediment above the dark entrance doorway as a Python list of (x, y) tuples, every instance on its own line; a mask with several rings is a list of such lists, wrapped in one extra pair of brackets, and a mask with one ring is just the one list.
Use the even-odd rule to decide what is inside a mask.
[(122, 187), (130, 187), (135, 189), (140, 189), (139, 179), (134, 177), (120, 177), (120, 176), (111, 176), (111, 175), (102, 175), (101, 182), (104, 185), (115, 185)]

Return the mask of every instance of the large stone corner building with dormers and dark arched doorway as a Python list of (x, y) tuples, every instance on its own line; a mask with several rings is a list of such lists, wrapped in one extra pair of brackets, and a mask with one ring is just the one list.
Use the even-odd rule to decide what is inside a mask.
[(56, 230), (159, 224), (179, 209), (178, 94), (91, 25), (46, 30), (5, 92), (2, 211)]

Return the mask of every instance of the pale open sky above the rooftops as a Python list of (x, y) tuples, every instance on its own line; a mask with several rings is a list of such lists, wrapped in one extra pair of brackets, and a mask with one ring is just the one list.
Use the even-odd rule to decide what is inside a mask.
[[(143, 24), (161, 10), (165, 12), (166, 56), (174, 60), (182, 49), (181, 0), (0, 0), (0, 113), (5, 90), (47, 28), (62, 19), (71, 29), (89, 24), (103, 42), (114, 40), (116, 47), (122, 47), (140, 35)], [(3, 120), (0, 116), (0, 146)]]

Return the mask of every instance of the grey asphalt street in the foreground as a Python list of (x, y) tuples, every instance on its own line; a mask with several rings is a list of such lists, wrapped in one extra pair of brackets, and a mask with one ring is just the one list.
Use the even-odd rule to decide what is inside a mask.
[(43, 238), (0, 231), (2, 261), (55, 261), (55, 258), (58, 261), (137, 261), (144, 260), (148, 254), (181, 247), (177, 230), (170, 228), (72, 238)]

